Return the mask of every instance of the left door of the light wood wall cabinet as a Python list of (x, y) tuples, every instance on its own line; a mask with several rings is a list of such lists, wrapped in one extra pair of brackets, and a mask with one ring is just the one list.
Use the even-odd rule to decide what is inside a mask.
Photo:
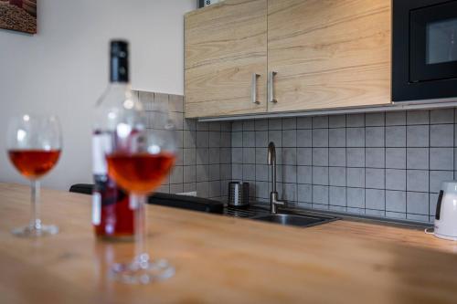
[(265, 112), (266, 69), (267, 0), (226, 0), (186, 15), (186, 117)]

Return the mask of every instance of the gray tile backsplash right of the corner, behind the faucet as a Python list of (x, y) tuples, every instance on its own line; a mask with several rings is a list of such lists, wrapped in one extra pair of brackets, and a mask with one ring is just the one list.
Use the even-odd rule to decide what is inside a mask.
[[(253, 183), (253, 198), (265, 204), (271, 141), (280, 158), (280, 194), (295, 207), (432, 222), (440, 184), (457, 172), (454, 109), (278, 118), (253, 125), (255, 156), (245, 162), (236, 147), (246, 148), (241, 139), (252, 135), (245, 135), (246, 121), (233, 122), (232, 177)], [(252, 159), (255, 170), (245, 166)]]

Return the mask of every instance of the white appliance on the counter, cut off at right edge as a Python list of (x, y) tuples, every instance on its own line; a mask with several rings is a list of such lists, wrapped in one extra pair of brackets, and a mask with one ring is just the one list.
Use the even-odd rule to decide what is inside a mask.
[(457, 181), (441, 183), (436, 204), (434, 235), (457, 241)]

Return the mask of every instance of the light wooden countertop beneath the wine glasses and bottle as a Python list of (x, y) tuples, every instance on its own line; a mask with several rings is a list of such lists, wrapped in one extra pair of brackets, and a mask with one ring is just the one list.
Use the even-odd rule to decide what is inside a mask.
[(42, 201), (43, 219), (61, 232), (16, 238), (28, 188), (0, 183), (0, 303), (457, 302), (454, 244), (420, 231), (345, 221), (303, 229), (155, 205), (149, 251), (174, 264), (175, 277), (123, 285), (107, 267), (133, 245), (95, 239), (90, 197), (43, 190)]

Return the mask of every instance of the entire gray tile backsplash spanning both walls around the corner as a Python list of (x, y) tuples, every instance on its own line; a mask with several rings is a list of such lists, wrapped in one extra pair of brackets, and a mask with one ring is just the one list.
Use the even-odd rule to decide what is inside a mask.
[(268, 204), (274, 142), (289, 205), (432, 222), (441, 181), (457, 173), (454, 109), (197, 122), (184, 118), (182, 96), (139, 96), (146, 109), (167, 102), (178, 130), (178, 160), (160, 191), (226, 200), (238, 180)]

